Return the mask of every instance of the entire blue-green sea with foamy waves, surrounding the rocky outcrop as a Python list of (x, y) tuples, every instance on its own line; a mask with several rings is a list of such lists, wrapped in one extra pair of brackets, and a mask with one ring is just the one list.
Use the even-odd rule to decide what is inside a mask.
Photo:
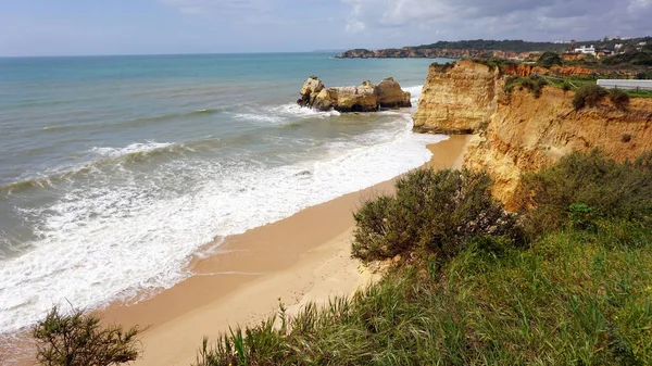
[[(412, 110), (296, 105), (303, 81), (421, 93), (434, 60), (327, 53), (0, 59), (0, 332), (138, 301), (206, 243), (424, 164)], [(437, 61), (437, 60), (435, 60)], [(443, 60), (439, 60), (443, 61)]]

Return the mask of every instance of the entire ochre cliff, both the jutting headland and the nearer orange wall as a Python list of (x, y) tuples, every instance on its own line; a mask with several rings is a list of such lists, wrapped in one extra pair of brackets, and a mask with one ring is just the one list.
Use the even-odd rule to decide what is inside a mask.
[[(457, 66), (455, 73), (466, 67)], [(450, 77), (443, 87), (440, 84), (446, 77), (428, 78), (417, 112), (418, 123), (428, 128), (416, 127), (415, 118), (415, 129), (451, 132), (450, 127), (454, 126), (455, 130), (476, 134), (466, 149), (464, 166), (487, 171), (494, 180), (494, 195), (510, 210), (519, 205), (514, 192), (523, 173), (550, 166), (573, 151), (599, 148), (606, 156), (624, 161), (652, 150), (652, 99), (634, 98), (626, 109), (605, 99), (594, 108), (575, 110), (572, 91), (544, 87), (540, 98), (527, 90), (507, 93), (500, 78), (493, 90), (480, 96), (476, 93), (489, 85), (487, 73), (478, 74), (476, 66), (468, 68), (467, 78)], [(477, 85), (471, 86), (477, 76)], [(459, 79), (464, 81), (457, 84)], [(465, 94), (464, 102), (453, 110), (468, 108), (473, 111), (469, 118), (457, 114), (450, 121), (441, 112), (430, 110), (450, 108), (439, 102), (443, 98), (437, 94), (449, 96), (457, 85), (459, 92)], [(488, 101), (487, 96), (492, 96), (492, 100)], [(435, 117), (429, 118), (430, 115)], [(479, 115), (486, 116), (481, 126), (477, 125)]]

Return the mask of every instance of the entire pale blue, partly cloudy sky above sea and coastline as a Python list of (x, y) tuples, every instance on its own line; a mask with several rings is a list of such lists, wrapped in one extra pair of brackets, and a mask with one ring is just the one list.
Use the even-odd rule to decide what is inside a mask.
[(0, 56), (651, 36), (652, 0), (0, 0)]

